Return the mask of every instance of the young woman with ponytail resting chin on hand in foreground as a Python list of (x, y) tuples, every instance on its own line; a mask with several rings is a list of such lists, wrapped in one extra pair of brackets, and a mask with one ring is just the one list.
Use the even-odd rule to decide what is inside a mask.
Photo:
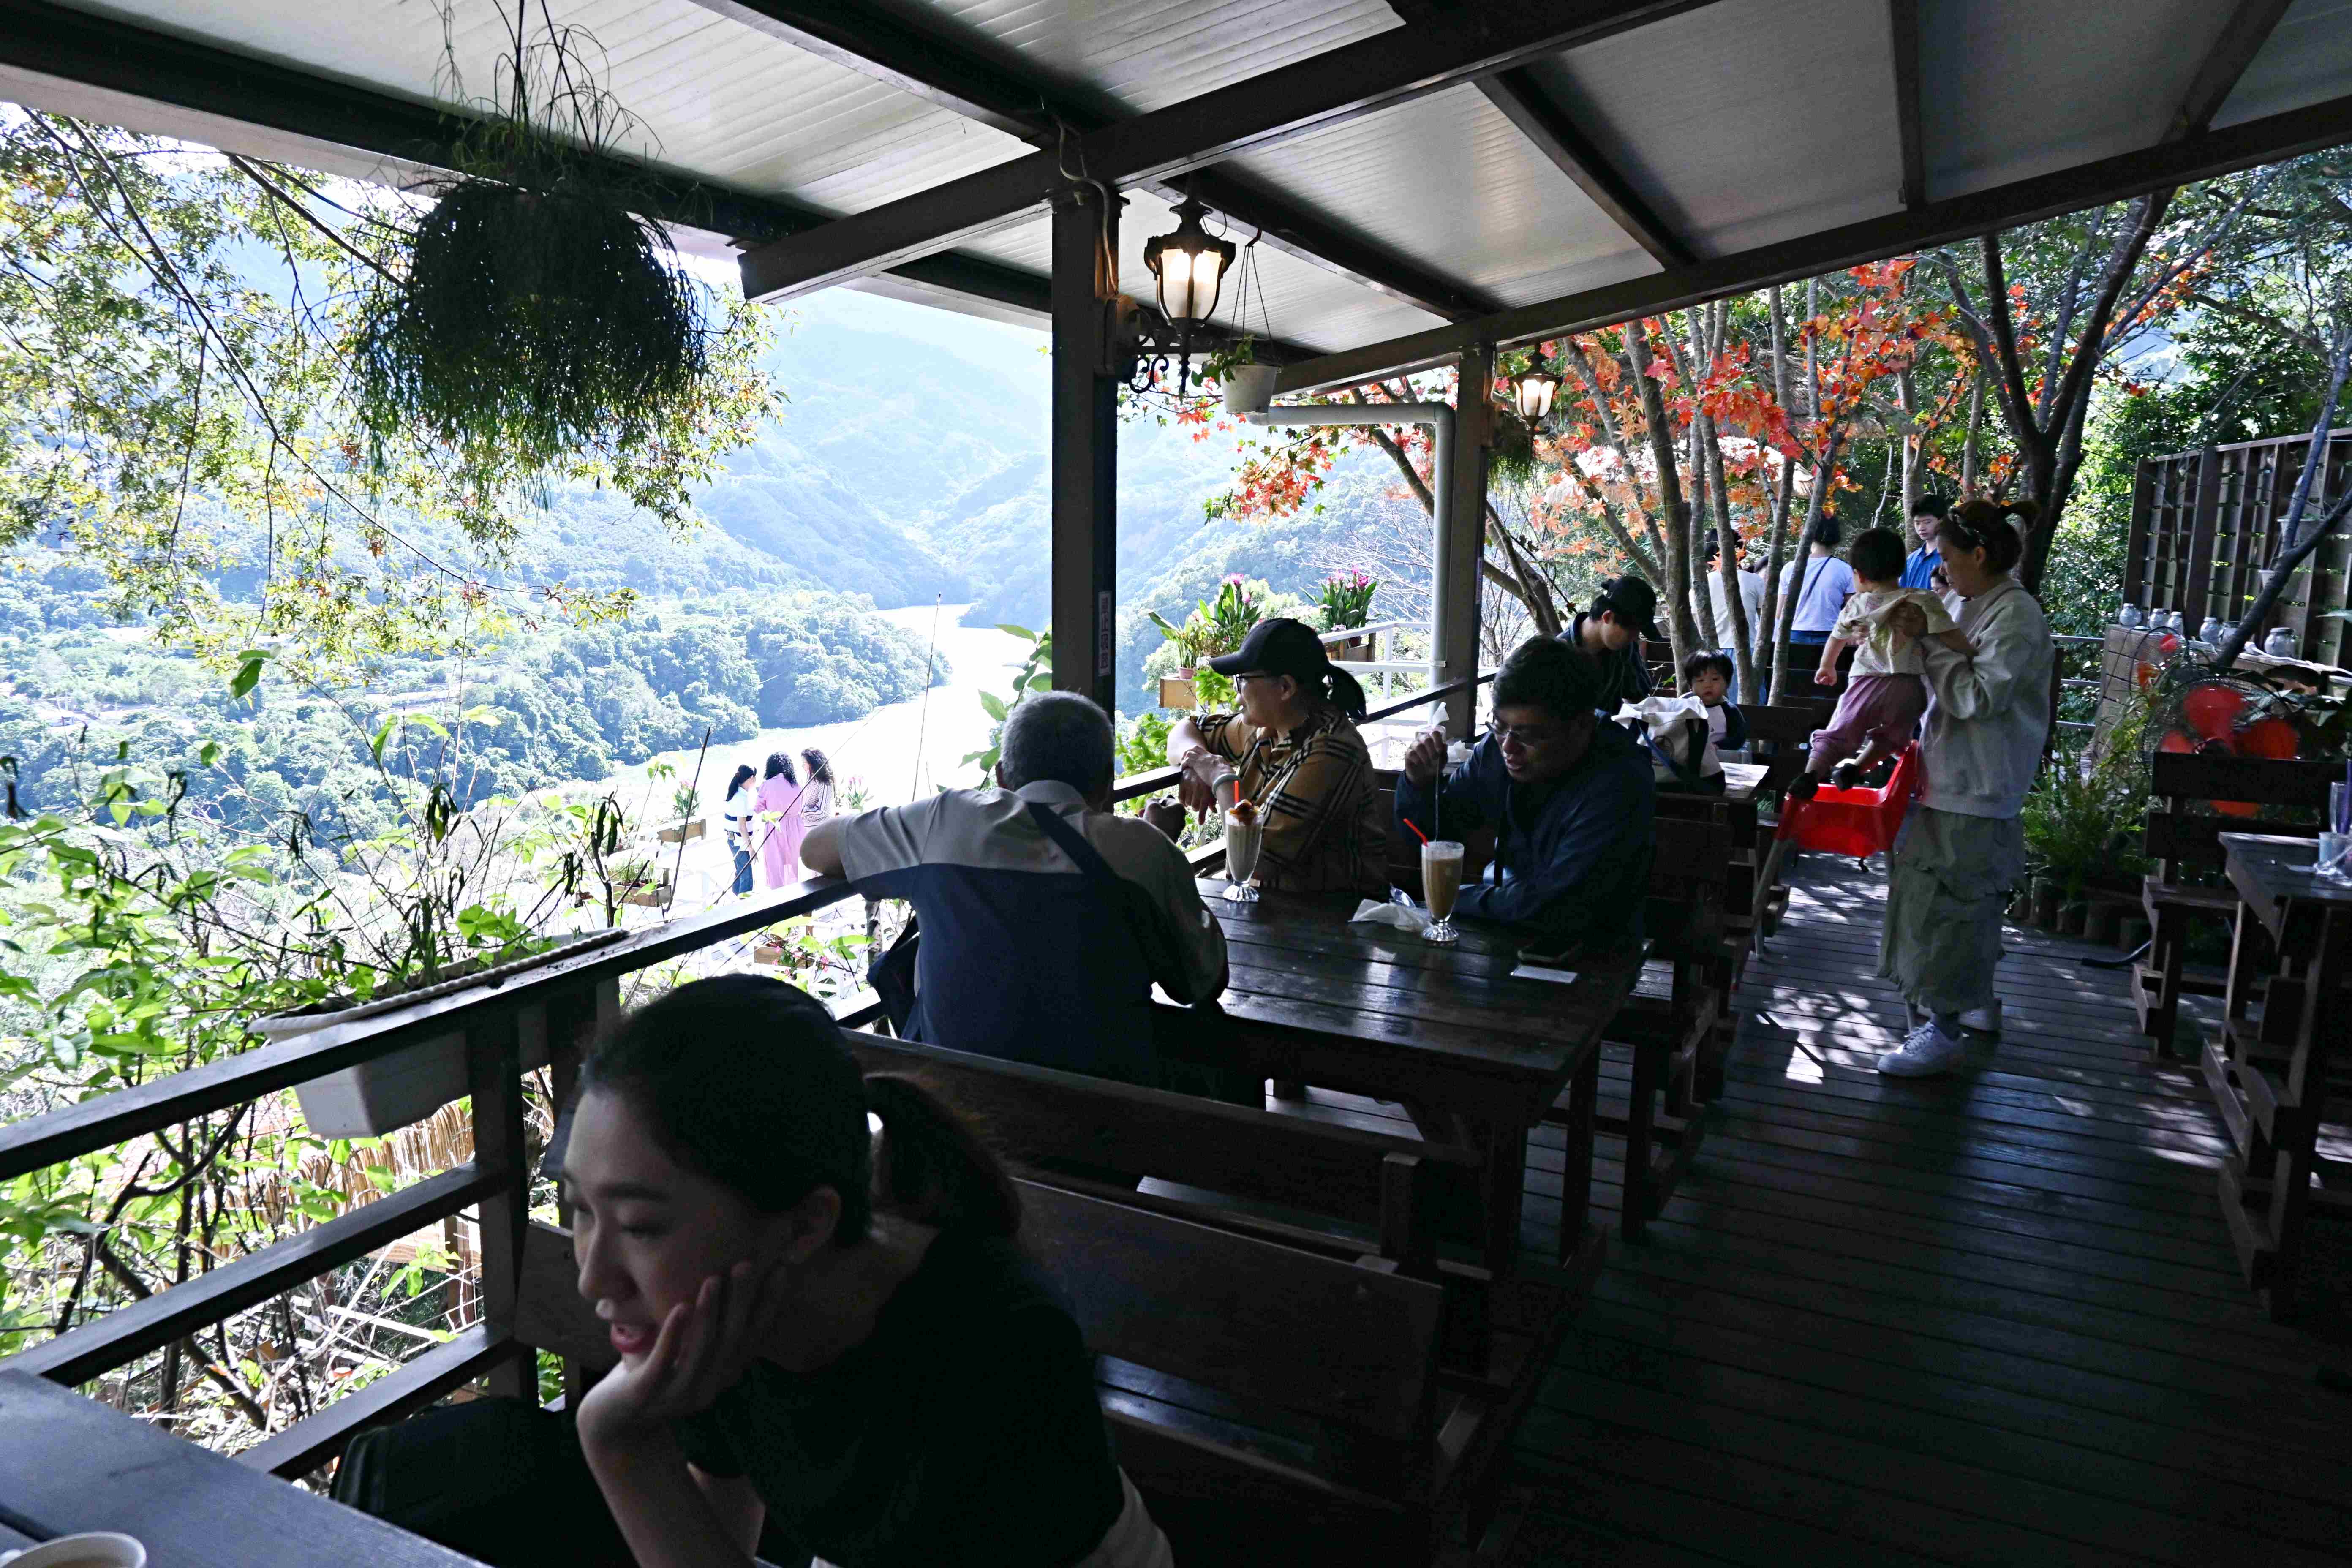
[[(882, 1121), (875, 1152), (868, 1112)], [(764, 976), (588, 1056), (562, 1152), (621, 1366), (579, 1434), (642, 1568), (1169, 1568), (1004, 1168)]]

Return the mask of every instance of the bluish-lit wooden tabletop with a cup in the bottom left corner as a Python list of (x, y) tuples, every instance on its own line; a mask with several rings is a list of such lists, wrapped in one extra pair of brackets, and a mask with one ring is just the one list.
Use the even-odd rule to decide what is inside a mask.
[[(120, 1530), (155, 1568), (466, 1568), (470, 1556), (0, 1371), (0, 1533)], [(16, 1542), (0, 1542), (16, 1544)]]

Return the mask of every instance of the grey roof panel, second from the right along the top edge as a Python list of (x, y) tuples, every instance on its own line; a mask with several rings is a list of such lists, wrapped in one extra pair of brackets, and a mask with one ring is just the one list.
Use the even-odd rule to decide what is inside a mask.
[(1922, 0), (1929, 195), (2154, 143), (2234, 5)]

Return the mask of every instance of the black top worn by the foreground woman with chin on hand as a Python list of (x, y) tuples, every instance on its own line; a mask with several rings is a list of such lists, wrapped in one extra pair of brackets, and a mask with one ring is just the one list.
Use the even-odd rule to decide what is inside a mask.
[(677, 1439), (750, 1476), (769, 1540), (842, 1568), (1058, 1568), (1124, 1497), (1077, 1324), (1002, 1237), (943, 1232), (863, 1345), (807, 1375), (757, 1361)]

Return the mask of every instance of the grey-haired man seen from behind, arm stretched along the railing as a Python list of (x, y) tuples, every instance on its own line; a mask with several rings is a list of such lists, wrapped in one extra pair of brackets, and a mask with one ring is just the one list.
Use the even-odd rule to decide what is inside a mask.
[(922, 922), (908, 1034), (953, 1051), (1162, 1084), (1150, 987), (1225, 990), (1225, 933), (1157, 827), (1110, 813), (1110, 719), (1075, 691), (1004, 722), (997, 788), (809, 830), (811, 872)]

